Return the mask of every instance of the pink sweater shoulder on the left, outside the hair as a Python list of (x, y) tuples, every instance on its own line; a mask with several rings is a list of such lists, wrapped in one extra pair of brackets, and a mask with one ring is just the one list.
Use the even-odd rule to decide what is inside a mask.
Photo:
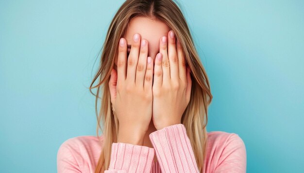
[(103, 136), (77, 136), (64, 141), (57, 151), (58, 169), (94, 165), (98, 161)]

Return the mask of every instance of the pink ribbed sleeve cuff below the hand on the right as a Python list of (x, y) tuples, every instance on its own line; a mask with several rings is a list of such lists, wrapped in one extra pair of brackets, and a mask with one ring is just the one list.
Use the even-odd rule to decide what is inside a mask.
[(149, 137), (162, 173), (199, 173), (183, 124), (154, 131), (150, 133)]

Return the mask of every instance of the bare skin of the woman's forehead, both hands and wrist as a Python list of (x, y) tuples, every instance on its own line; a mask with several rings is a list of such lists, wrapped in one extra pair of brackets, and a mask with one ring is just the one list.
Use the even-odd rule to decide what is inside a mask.
[[(136, 33), (139, 34), (139, 43), (135, 43), (133, 40)], [(140, 144), (153, 148), (149, 139), (150, 133), (181, 123), (182, 114), (190, 101), (192, 82), (190, 71), (185, 66), (185, 58), (183, 57), (180, 44), (176, 41), (174, 33), (172, 33), (173, 31), (169, 29), (166, 23), (157, 19), (152, 20), (147, 17), (137, 16), (129, 23), (128, 30), (123, 37), (125, 40), (124, 46), (118, 48), (118, 58), (127, 58), (124, 57), (124, 53), (126, 54), (126, 52), (128, 52), (130, 53), (128, 59), (126, 59), (128, 62), (130, 61), (130, 57), (137, 57), (136, 63), (142, 64), (142, 62), (145, 62), (146, 66), (143, 68), (143, 73), (138, 72), (138, 67), (136, 67), (136, 65), (134, 68), (132, 67), (133, 70), (131, 72), (131, 68), (129, 68), (129, 63), (127, 62), (125, 62), (128, 67), (127, 69), (121, 70), (116, 67), (115, 70), (112, 70), (109, 82), (111, 102), (112, 104), (113, 102), (118, 102), (118, 105), (121, 102), (120, 105), (125, 106), (125, 104), (128, 104), (129, 102), (132, 103), (137, 101), (134, 98), (130, 98), (130, 96), (134, 96), (138, 92), (141, 92), (140, 89), (142, 89), (142, 87), (140, 89), (130, 89), (130, 92), (121, 89), (119, 98), (123, 97), (122, 95), (124, 93), (129, 92), (130, 95), (125, 95), (124, 97), (130, 99), (120, 102), (116, 99), (118, 94), (114, 84), (121, 84), (119, 88), (122, 88), (122, 85), (132, 86), (128, 85), (129, 83), (122, 82), (126, 82), (127, 80), (122, 80), (126, 78), (134, 80), (136, 84), (141, 84), (144, 86), (145, 90), (148, 90), (146, 88), (150, 88), (152, 92), (150, 92), (150, 90), (146, 92), (148, 97), (145, 98), (147, 101), (143, 99), (138, 100), (136, 103), (142, 105), (144, 109), (141, 110), (139, 107), (132, 107), (136, 105), (133, 103), (125, 106), (125, 109), (120, 111), (121, 113), (119, 113), (118, 117), (119, 123), (124, 122), (125, 125), (122, 124), (121, 129), (123, 130), (118, 131), (118, 142)], [(140, 45), (143, 40), (146, 41), (146, 47), (139, 48), (140, 46), (137, 45)], [(126, 44), (132, 44), (131, 49), (133, 50), (130, 48), (127, 49)], [(137, 51), (135, 51), (136, 47), (138, 47)], [(146, 53), (141, 53), (141, 50), (146, 50)], [(135, 52), (137, 52), (137, 54)], [(147, 64), (147, 57), (152, 58), (150, 64)], [(158, 57), (160, 57), (160, 59)], [(116, 66), (118, 65), (118, 59), (115, 60), (115, 64)], [(152, 70), (148, 71), (149, 68), (152, 68)], [(125, 71), (125, 73), (122, 71)], [(150, 75), (153, 78), (151, 83), (145, 81), (145, 73), (146, 76)], [(133, 77), (130, 77), (132, 75)], [(138, 97), (140, 97), (140, 95)], [(128, 108), (130, 109), (130, 112), (133, 111), (133, 115), (139, 116), (133, 117), (132, 115), (125, 115), (126, 111), (128, 112), (128, 110), (126, 110)], [(117, 108), (115, 108), (115, 110), (117, 110)], [(144, 116), (144, 118), (142, 118), (142, 116)], [(142, 118), (141, 121), (138, 120), (140, 118)], [(143, 125), (138, 126), (138, 124)], [(133, 134), (133, 136), (126, 136), (128, 134)], [(139, 137), (137, 138), (134, 136)], [(155, 157), (154, 160), (156, 160)]]

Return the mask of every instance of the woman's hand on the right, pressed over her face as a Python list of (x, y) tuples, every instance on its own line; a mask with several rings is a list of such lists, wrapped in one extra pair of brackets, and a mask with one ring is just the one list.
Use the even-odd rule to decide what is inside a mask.
[(190, 101), (190, 70), (186, 68), (183, 50), (176, 40), (170, 30), (168, 37), (160, 39), (160, 53), (155, 57), (152, 121), (156, 130), (181, 124), (182, 115)]

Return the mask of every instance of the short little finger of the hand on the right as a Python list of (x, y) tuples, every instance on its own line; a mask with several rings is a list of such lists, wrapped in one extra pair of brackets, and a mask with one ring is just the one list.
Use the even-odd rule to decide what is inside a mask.
[(153, 87), (161, 87), (163, 83), (162, 54), (158, 53), (154, 64)]

